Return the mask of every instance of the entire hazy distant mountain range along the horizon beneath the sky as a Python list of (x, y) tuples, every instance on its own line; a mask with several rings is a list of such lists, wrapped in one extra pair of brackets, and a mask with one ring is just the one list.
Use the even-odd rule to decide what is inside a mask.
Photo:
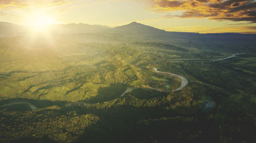
[[(29, 27), (17, 25), (9, 22), (0, 22), (0, 37), (23, 36), (29, 31)], [(158, 28), (132, 22), (127, 25), (111, 28), (102, 25), (90, 24), (55, 24), (49, 29), (54, 34), (82, 34), (82, 33), (104, 33), (118, 34), (124, 37), (138, 37), (147, 39), (169, 39), (169, 38), (256, 38), (256, 35), (239, 33), (218, 33), (218, 34), (199, 34), (186, 32), (166, 32)]]

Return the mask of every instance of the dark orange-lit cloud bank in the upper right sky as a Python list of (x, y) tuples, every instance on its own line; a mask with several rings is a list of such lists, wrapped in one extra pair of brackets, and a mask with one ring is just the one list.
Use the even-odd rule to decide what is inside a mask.
[[(255, 0), (147, 0), (154, 10), (184, 11), (178, 17), (256, 22)], [(166, 15), (165, 18), (172, 15)]]

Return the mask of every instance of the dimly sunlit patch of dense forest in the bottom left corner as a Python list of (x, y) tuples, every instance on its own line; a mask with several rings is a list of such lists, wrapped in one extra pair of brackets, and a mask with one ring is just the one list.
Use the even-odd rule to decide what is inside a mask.
[(99, 120), (92, 114), (78, 116), (76, 111), (64, 114), (59, 109), (58, 106), (49, 106), (36, 111), (1, 110), (1, 142), (44, 137), (54, 141), (73, 142), (84, 129)]

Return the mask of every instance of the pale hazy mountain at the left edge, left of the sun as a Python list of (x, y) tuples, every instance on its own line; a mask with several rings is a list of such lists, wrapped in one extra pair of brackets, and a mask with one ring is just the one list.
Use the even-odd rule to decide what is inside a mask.
[(9, 23), (0, 22), (0, 37), (20, 36), (26, 33), (27, 27)]

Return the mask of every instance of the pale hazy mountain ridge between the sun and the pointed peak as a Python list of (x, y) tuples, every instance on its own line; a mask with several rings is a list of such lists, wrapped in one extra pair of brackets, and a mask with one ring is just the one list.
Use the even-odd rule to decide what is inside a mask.
[(110, 28), (109, 26), (90, 25), (90, 24), (55, 24), (52, 25), (50, 31), (53, 33), (69, 34), (69, 33), (97, 33)]

